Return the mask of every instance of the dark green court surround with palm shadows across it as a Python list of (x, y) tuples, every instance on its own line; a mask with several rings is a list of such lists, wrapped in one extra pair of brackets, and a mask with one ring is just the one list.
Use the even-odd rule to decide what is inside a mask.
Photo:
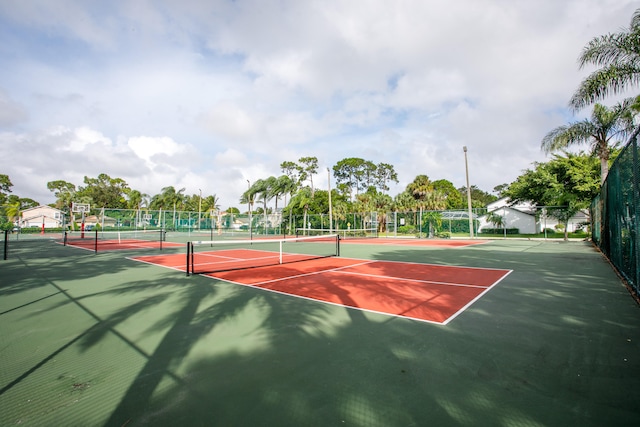
[(0, 261), (0, 425), (640, 420), (640, 309), (589, 242), (342, 245), (357, 259), (512, 270), (446, 325), (127, 258), (154, 253), (11, 245)]

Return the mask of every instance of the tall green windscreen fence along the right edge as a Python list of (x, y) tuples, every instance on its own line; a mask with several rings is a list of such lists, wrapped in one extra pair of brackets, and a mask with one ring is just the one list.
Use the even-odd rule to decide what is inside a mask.
[(593, 241), (640, 295), (640, 165), (632, 138), (615, 160), (600, 195), (591, 202)]

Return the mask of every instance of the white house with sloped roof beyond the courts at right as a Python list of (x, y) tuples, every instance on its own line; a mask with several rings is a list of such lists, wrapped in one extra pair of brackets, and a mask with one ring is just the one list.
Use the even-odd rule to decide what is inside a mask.
[[(560, 221), (548, 215), (545, 209), (533, 206), (528, 202), (509, 204), (509, 199), (506, 197), (489, 203), (487, 211), (501, 216), (504, 228), (517, 228), (520, 234), (542, 233), (544, 229), (556, 229), (556, 226), (560, 224)], [(496, 227), (495, 224), (489, 222), (486, 215), (478, 219), (480, 222), (479, 231), (482, 231), (483, 228), (502, 228), (502, 226)], [(580, 211), (571, 217), (567, 224), (567, 230), (574, 232), (586, 222), (589, 222), (589, 213)]]

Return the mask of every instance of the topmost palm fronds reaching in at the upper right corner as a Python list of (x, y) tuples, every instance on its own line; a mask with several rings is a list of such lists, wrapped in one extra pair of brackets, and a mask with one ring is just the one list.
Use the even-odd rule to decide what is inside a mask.
[(628, 29), (592, 39), (579, 57), (580, 67), (600, 68), (582, 81), (569, 104), (584, 108), (610, 94), (618, 94), (640, 83), (640, 9)]

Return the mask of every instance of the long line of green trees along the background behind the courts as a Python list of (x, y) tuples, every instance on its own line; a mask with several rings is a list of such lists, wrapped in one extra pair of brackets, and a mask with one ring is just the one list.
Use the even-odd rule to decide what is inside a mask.
[[(269, 213), (283, 208), (288, 214), (329, 213), (329, 191), (318, 190), (314, 177), (318, 174), (316, 157), (301, 157), (297, 161), (283, 161), (282, 175), (269, 176), (249, 183), (239, 197), (241, 208), (229, 206), (230, 213)], [(392, 197), (388, 194), (392, 182), (398, 182), (393, 165), (375, 164), (361, 158), (340, 160), (327, 173), (332, 174), (335, 188), (331, 189), (332, 208), (336, 218), (349, 212), (379, 212), (417, 209), (463, 209), (466, 207), (466, 187), (456, 188), (447, 180), (432, 181), (427, 175), (418, 175), (406, 189)], [(13, 184), (7, 175), (0, 175), (0, 206), (5, 220), (15, 221), (21, 210), (38, 206), (32, 199), (10, 194)], [(47, 183), (56, 201), (51, 206), (69, 211), (72, 203), (86, 203), (93, 208), (150, 209), (208, 212), (220, 210), (216, 194), (186, 194), (185, 188), (162, 188), (155, 195), (132, 189), (125, 180), (105, 173), (97, 177), (85, 176), (82, 185), (55, 180)], [(474, 207), (482, 208), (497, 196), (471, 187)], [(274, 202), (274, 207), (269, 205)], [(282, 201), (282, 205), (280, 205)]]

